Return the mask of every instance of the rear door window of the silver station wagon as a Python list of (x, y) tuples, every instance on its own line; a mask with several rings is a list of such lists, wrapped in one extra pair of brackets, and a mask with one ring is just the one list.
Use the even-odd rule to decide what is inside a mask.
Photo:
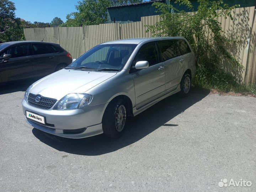
[(181, 55), (180, 50), (173, 40), (159, 41), (158, 44), (164, 61)]

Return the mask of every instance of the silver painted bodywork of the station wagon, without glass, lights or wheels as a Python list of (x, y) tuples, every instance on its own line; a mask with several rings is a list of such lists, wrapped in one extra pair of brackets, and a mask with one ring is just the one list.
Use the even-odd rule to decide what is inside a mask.
[[(185, 71), (191, 71), (192, 79), (196, 73), (193, 52), (130, 73), (130, 66), (135, 55), (145, 43), (169, 39), (184, 39), (187, 42), (182, 37), (124, 39), (106, 42), (103, 44), (137, 44), (121, 71), (62, 69), (34, 82), (30, 90), (30, 93), (34, 95), (55, 98), (59, 101), (70, 93), (86, 93), (93, 95), (93, 99), (88, 106), (67, 111), (53, 110), (58, 101), (49, 110), (44, 110), (33, 107), (23, 100), (22, 107), (25, 116), (26, 111), (40, 114), (46, 118), (47, 124), (41, 125), (30, 120), (27, 122), (37, 129), (60, 137), (90, 137), (103, 133), (102, 117), (108, 103), (115, 97), (127, 98), (131, 103), (132, 115), (136, 116), (163, 98), (179, 92), (180, 82)], [(54, 127), (49, 124), (53, 124)], [(79, 134), (63, 133), (63, 129), (80, 128), (86, 128), (86, 130)]]

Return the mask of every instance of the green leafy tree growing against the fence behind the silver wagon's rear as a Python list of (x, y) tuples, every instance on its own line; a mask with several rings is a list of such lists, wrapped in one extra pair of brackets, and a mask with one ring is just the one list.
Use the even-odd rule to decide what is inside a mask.
[[(188, 0), (176, 0), (176, 3), (185, 5), (193, 11), (193, 6)], [(207, 89), (221, 91), (241, 89), (241, 72), (243, 66), (224, 47), (235, 45), (234, 39), (227, 38), (223, 32), (219, 17), (230, 17), (231, 11), (238, 5), (229, 7), (222, 0), (198, 0), (198, 11), (190, 14), (183, 10), (175, 9), (172, 5), (155, 2), (161, 12), (161, 21), (148, 27), (155, 36), (180, 36), (185, 37), (191, 44), (197, 59), (197, 72), (194, 84)], [(218, 12), (216, 11), (218, 10)], [(213, 38), (209, 39), (207, 31), (212, 31)], [(229, 71), (223, 70), (222, 60), (229, 62)]]

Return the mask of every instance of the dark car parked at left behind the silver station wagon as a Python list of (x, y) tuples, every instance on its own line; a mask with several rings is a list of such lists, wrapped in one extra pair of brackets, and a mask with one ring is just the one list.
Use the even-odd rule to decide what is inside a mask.
[(15, 41), (0, 43), (0, 84), (40, 78), (72, 62), (69, 52), (56, 43)]

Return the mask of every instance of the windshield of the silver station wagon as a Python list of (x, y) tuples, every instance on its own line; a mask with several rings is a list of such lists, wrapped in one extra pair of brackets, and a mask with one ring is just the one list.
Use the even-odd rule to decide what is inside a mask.
[(136, 44), (98, 45), (71, 63), (68, 68), (119, 71), (126, 64)]

